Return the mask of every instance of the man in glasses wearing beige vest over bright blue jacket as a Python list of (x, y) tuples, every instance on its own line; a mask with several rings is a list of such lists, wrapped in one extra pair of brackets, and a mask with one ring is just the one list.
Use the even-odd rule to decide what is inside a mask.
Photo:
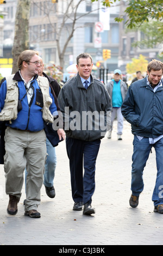
[[(17, 214), (21, 197), (23, 172), (27, 168), (26, 216), (39, 218), (40, 190), (46, 159), (45, 123), (53, 123), (58, 114), (47, 78), (38, 77), (39, 56), (23, 51), (18, 57), (18, 70), (3, 80), (0, 88), (0, 120), (5, 121), (4, 171), (7, 212)], [(64, 131), (58, 130), (59, 138)]]

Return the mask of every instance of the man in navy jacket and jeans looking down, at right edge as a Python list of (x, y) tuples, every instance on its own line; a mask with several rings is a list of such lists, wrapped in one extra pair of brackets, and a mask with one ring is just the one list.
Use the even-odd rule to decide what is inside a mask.
[(152, 147), (155, 148), (157, 178), (152, 200), (154, 211), (163, 214), (163, 63), (152, 60), (147, 67), (147, 77), (130, 85), (122, 104), (123, 117), (131, 124), (134, 134), (134, 153), (131, 171), (130, 206), (139, 204), (143, 191), (143, 169)]

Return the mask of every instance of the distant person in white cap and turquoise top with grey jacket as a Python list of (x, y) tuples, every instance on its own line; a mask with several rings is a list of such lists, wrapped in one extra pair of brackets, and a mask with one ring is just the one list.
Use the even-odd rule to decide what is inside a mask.
[(121, 106), (124, 97), (127, 93), (127, 85), (121, 80), (121, 70), (115, 69), (113, 79), (106, 84), (106, 89), (111, 98), (112, 112), (111, 112), (111, 129), (106, 136), (110, 139), (114, 119), (117, 117), (117, 137), (122, 140), (123, 131), (123, 115), (121, 113)]

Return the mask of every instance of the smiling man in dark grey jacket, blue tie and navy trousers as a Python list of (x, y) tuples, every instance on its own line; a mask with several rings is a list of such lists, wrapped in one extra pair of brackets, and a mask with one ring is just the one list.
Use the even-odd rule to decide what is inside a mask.
[[(66, 149), (70, 161), (73, 210), (82, 210), (84, 204), (84, 215), (95, 214), (91, 202), (95, 191), (96, 159), (101, 139), (106, 130), (110, 129), (111, 116), (109, 94), (104, 84), (92, 77), (92, 66), (90, 54), (79, 54), (78, 74), (64, 84), (58, 96), (59, 106), (66, 120)], [(66, 108), (70, 113), (65, 112)], [(93, 113), (97, 114), (97, 123), (94, 123)], [(99, 113), (107, 124), (104, 129), (99, 124)]]

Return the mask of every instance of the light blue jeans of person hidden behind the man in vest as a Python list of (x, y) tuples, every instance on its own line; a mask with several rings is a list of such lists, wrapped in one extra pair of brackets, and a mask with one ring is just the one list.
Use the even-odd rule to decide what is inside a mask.
[[(43, 174), (43, 185), (46, 187), (53, 186), (53, 180), (55, 176), (55, 168), (57, 166), (57, 156), (55, 153), (55, 147), (52, 146), (51, 142), (46, 138), (46, 149), (47, 149), (47, 159), (45, 164), (45, 171)], [(27, 170), (25, 170), (25, 184), (27, 178)]]

